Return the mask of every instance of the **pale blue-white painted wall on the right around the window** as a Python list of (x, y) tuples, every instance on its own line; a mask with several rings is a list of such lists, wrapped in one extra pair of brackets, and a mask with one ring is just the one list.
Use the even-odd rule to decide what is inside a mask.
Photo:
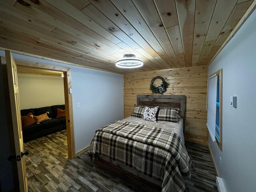
[[(223, 68), (223, 150), (211, 139), (208, 144), (226, 191), (255, 192), (256, 10), (210, 64), (208, 75), (220, 68)], [(237, 96), (237, 108), (230, 106), (230, 96)]]

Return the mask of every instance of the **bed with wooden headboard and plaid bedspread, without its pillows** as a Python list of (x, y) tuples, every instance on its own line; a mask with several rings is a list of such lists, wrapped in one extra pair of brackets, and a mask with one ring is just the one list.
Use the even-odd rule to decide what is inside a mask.
[[(130, 116), (96, 131), (87, 151), (96, 166), (144, 191), (186, 191), (191, 160), (184, 146), (186, 96), (137, 95), (137, 106), (180, 108), (178, 122), (149, 122)], [(146, 138), (146, 139), (145, 139)]]

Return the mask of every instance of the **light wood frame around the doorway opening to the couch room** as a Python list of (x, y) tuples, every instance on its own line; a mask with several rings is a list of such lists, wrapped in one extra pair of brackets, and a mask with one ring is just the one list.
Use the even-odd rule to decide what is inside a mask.
[(68, 144), (68, 158), (73, 159), (75, 154), (75, 138), (74, 138), (74, 119), (73, 119), (73, 102), (72, 94), (69, 93), (71, 84), (71, 69), (61, 66), (44, 64), (39, 62), (31, 62), (26, 60), (15, 59), (17, 66), (26, 66), (35, 69), (44, 69), (52, 71), (60, 71), (64, 74), (64, 95), (65, 95), (65, 111), (66, 111), (66, 129), (67, 129), (67, 144)]

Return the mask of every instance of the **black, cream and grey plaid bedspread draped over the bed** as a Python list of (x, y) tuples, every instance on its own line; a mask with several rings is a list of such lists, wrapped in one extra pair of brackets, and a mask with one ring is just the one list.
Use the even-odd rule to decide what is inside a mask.
[(96, 130), (87, 153), (108, 156), (161, 180), (162, 192), (186, 191), (182, 175), (191, 177), (191, 160), (180, 137), (161, 128), (112, 122)]

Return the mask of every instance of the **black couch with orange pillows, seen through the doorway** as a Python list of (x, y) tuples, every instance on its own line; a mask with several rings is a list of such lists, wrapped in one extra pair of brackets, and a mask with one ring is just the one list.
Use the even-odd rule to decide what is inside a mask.
[(25, 126), (22, 128), (23, 134), (23, 142), (28, 142), (61, 130), (66, 129), (66, 118), (56, 118), (57, 116), (57, 109), (65, 109), (65, 105), (54, 105), (49, 107), (41, 107), (41, 108), (34, 108), (34, 109), (23, 109), (20, 110), (21, 116), (25, 116), (28, 113), (34, 114), (34, 116), (38, 116), (49, 112), (50, 120), (46, 120), (41, 122), (40, 124), (32, 124), (29, 126)]

